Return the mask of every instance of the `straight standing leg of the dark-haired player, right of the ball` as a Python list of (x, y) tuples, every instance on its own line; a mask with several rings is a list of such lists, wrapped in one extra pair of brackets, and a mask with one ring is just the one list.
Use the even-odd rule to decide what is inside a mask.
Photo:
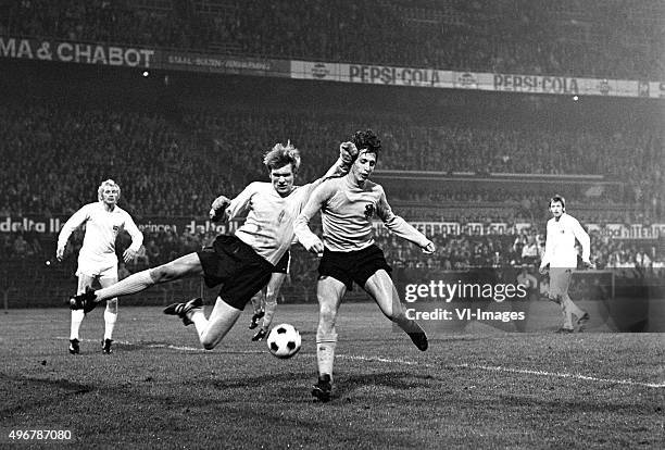
[(335, 323), (341, 299), (347, 292), (343, 283), (329, 276), (318, 279), (316, 297), (318, 299), (318, 328), (316, 329), (316, 363), (318, 378), (312, 388), (312, 396), (322, 402), (332, 397), (332, 365), (337, 348)]

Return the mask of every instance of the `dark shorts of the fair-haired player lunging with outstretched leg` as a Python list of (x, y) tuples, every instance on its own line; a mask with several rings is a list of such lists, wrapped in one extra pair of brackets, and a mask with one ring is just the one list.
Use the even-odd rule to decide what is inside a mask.
[(217, 236), (211, 247), (197, 252), (208, 287), (223, 284), (219, 298), (243, 310), (254, 293), (271, 280), (275, 266), (236, 236)]

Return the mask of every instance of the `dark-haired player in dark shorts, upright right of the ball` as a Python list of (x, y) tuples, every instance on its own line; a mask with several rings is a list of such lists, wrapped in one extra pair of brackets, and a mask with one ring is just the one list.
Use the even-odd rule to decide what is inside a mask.
[[(340, 302), (360, 285), (378, 304), (381, 312), (402, 328), (415, 346), (427, 349), (427, 336), (423, 328), (405, 315), (404, 308), (390, 278), (390, 266), (384, 252), (374, 243), (372, 221), (378, 216), (388, 229), (421, 247), (423, 252), (435, 251), (434, 243), (402, 217), (396, 215), (384, 188), (368, 178), (376, 167), (381, 142), (371, 130), (356, 132), (350, 142), (344, 142), (355, 154), (349, 173), (341, 178), (329, 179), (318, 186), (296, 220), (296, 235), (303, 247), (323, 255), (318, 265), (316, 296), (319, 305), (316, 332), (318, 382), (312, 395), (321, 401), (330, 400), (332, 390), (332, 363), (337, 345), (335, 321)], [(312, 233), (309, 223), (321, 210), (323, 242)]]

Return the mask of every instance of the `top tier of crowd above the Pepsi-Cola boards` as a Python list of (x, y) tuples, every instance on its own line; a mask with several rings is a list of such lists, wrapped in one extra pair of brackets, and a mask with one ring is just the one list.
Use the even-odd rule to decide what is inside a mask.
[[(658, 0), (0, 1), (0, 35), (264, 58), (660, 79)], [(279, 33), (275, 33), (279, 30)], [(525, 39), (528, 36), (528, 39)]]

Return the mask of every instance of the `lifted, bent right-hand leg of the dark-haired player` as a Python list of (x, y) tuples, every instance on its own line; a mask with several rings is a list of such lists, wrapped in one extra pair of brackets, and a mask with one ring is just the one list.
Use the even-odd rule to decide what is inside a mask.
[(376, 271), (364, 286), (365, 290), (381, 309), (386, 317), (390, 318), (397, 326), (409, 335), (411, 341), (418, 350), (425, 351), (429, 347), (427, 334), (414, 320), (406, 317), (404, 308), (400, 301), (399, 293), (390, 278), (382, 268)]

